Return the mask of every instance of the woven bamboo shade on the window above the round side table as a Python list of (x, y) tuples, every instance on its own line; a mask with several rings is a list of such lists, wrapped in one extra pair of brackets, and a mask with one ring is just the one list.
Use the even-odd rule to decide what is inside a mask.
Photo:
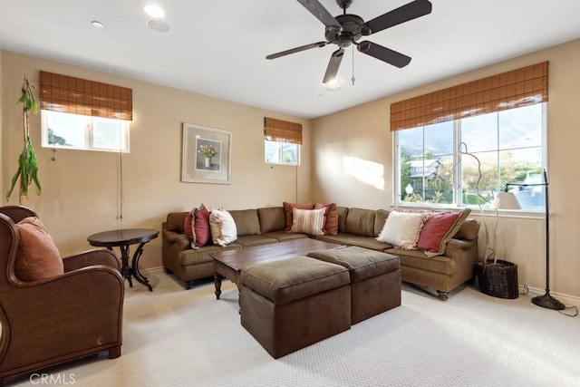
[(67, 75), (40, 72), (40, 108), (131, 121), (132, 90)]

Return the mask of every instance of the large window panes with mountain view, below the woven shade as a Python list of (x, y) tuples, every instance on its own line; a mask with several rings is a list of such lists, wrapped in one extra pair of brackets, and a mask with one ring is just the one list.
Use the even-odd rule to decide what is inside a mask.
[[(395, 131), (395, 201), (489, 207), (507, 182), (541, 183), (545, 122), (543, 102)], [(543, 187), (510, 189), (522, 208), (544, 207)]]

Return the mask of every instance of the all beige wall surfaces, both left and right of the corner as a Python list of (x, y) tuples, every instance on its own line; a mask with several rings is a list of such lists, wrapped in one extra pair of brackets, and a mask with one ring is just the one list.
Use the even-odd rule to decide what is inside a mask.
[[(24, 205), (34, 208), (63, 255), (89, 248), (86, 237), (116, 227), (152, 227), (169, 211), (189, 210), (204, 202), (225, 208), (276, 206), (284, 200), (334, 201), (343, 206), (389, 208), (392, 204), (391, 102), (432, 92), (495, 73), (549, 61), (548, 174), (551, 198), (551, 289), (555, 295), (580, 296), (580, 184), (575, 166), (580, 137), (580, 41), (531, 53), (420, 88), (369, 102), (312, 122), (234, 102), (183, 92), (109, 73), (0, 51), (0, 122), (2, 137), (0, 188), (5, 191), (23, 147), (20, 109), (15, 105), (24, 73), (38, 84), (38, 72), (110, 82), (133, 90), (131, 154), (122, 156), (123, 219), (119, 219), (120, 162), (116, 153), (40, 147), (40, 118), (32, 120), (40, 162), (43, 195), (34, 192)], [(304, 126), (302, 166), (266, 166), (263, 162), (263, 118), (272, 116)], [(182, 183), (181, 123), (190, 122), (232, 132), (232, 184)], [(35, 129), (34, 129), (35, 128)], [(312, 134), (312, 141), (311, 141)], [(312, 150), (311, 143), (316, 144)], [(51, 160), (55, 157), (56, 160)], [(311, 168), (312, 166), (312, 168)], [(312, 169), (312, 170), (311, 170)], [(311, 173), (312, 172), (312, 173)], [(311, 183), (312, 181), (312, 183)], [(312, 184), (312, 186), (311, 186)], [(17, 195), (8, 202), (18, 202)], [(493, 229), (493, 219), (489, 228)], [(545, 286), (544, 223), (540, 219), (501, 218), (498, 255), (516, 262), (520, 284)], [(480, 251), (483, 251), (483, 234)], [(143, 267), (160, 266), (160, 238), (146, 248)]]

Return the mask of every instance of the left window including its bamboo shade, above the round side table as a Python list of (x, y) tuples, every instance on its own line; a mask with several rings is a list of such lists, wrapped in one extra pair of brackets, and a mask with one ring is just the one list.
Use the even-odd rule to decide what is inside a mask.
[(129, 152), (132, 91), (40, 72), (43, 147)]

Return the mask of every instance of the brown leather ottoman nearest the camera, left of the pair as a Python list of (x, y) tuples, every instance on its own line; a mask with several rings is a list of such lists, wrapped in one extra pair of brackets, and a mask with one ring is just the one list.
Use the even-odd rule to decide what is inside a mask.
[(240, 275), (241, 323), (275, 359), (351, 327), (351, 287), (343, 266), (294, 256)]

